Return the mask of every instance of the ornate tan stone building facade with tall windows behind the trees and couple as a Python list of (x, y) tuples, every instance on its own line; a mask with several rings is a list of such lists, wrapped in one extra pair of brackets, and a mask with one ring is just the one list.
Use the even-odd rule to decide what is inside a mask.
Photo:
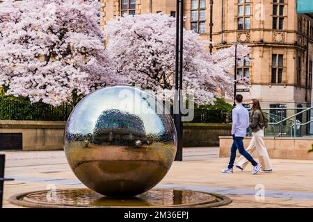
[[(100, 0), (101, 26), (123, 13), (162, 13), (175, 16), (175, 0)], [(185, 0), (184, 27), (207, 40), (209, 51), (210, 0)], [(296, 0), (214, 0), (214, 51), (241, 43), (251, 47), (249, 60), (238, 62), (239, 85), (246, 101), (266, 108), (280, 103), (305, 107), (311, 103), (313, 27), (296, 14)], [(308, 49), (308, 52), (307, 52)], [(227, 98), (230, 101), (232, 99)]]

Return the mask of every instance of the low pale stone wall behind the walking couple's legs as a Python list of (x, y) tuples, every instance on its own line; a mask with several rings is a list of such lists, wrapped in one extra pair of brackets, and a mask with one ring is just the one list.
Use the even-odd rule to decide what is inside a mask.
[[(248, 148), (250, 139), (247, 137), (243, 140), (245, 148)], [(313, 160), (313, 153), (308, 153), (312, 148), (313, 138), (266, 137), (264, 142), (268, 155), (273, 159)], [(230, 146), (232, 146), (232, 137), (220, 137), (220, 157), (230, 157)], [(237, 156), (239, 156), (238, 152)]]

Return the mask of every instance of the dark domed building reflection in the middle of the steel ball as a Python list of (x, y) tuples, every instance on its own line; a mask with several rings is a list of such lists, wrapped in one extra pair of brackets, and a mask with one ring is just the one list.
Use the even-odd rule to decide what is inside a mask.
[(148, 144), (143, 121), (134, 114), (120, 110), (106, 110), (97, 119), (93, 135), (95, 144), (134, 146)]

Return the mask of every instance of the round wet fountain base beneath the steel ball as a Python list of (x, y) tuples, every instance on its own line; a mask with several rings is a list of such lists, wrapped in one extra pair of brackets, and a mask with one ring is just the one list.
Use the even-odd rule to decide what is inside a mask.
[(134, 198), (109, 198), (90, 189), (57, 189), (17, 194), (10, 203), (32, 208), (211, 208), (228, 205), (232, 200), (219, 194), (176, 189), (151, 189)]

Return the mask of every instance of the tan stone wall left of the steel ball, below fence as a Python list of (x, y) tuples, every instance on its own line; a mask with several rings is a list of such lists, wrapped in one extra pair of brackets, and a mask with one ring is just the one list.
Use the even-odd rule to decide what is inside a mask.
[(0, 133), (22, 133), (23, 151), (63, 149), (64, 121), (0, 121)]

